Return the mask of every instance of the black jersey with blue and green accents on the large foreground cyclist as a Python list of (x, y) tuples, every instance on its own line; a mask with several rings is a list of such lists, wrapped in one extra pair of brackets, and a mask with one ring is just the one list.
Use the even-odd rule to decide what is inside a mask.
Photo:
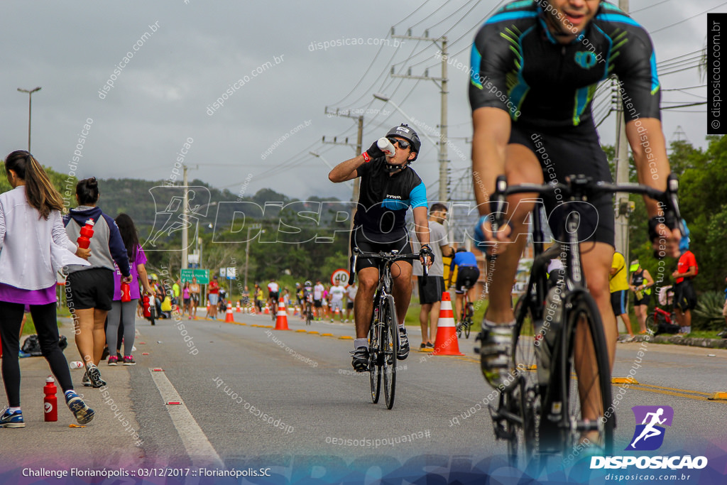
[(618, 7), (601, 2), (587, 28), (559, 44), (544, 0), (513, 1), (475, 36), (470, 105), (502, 108), (527, 126), (593, 127), (591, 103), (600, 81), (619, 78), (626, 121), (659, 119), (661, 92), (648, 33)]

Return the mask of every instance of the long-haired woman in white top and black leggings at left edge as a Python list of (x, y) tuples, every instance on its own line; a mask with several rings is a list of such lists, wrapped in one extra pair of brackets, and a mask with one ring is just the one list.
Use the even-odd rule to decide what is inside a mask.
[(48, 361), (76, 421), (85, 424), (93, 409), (73, 390), (71, 371), (60, 350), (56, 319), (57, 270), (71, 262), (88, 265), (88, 257), (63, 231), (63, 199), (43, 167), (27, 151), (5, 157), (5, 175), (11, 191), (0, 195), (0, 339), (2, 377), (8, 409), (0, 428), (25, 428), (20, 410), (20, 365), (17, 360), (20, 324), (30, 306), (43, 356)]

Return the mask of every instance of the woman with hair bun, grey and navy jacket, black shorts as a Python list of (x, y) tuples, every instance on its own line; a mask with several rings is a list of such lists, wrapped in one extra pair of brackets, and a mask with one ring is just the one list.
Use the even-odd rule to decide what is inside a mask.
[[(132, 282), (129, 256), (113, 219), (99, 207), (98, 182), (95, 177), (81, 180), (76, 185), (79, 207), (63, 217), (65, 232), (75, 241), (81, 228), (93, 221), (93, 236), (89, 249), (90, 266), (68, 266), (68, 301), (73, 302), (73, 324), (76, 326), (76, 346), (86, 364), (83, 384), (93, 388), (106, 385), (97, 365), (103, 356), (106, 335), (103, 324), (113, 300), (113, 273), (116, 267), (124, 276), (121, 281)], [(116, 266), (114, 266), (116, 262)], [(71, 305), (68, 305), (71, 308)], [(114, 349), (116, 347), (113, 347)], [(109, 347), (111, 350), (112, 348)], [(129, 347), (130, 349), (130, 347)]]

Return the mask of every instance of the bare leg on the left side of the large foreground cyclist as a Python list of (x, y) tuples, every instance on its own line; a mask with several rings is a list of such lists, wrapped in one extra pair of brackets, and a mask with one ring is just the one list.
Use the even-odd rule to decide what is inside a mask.
[[(543, 183), (540, 162), (535, 153), (524, 145), (507, 145), (505, 176), (507, 185)], [(520, 255), (527, 243), (526, 235), (529, 228), (526, 223), (534, 205), (520, 201), (533, 199), (533, 197), (533, 194), (517, 194), (507, 197), (507, 220), (510, 220), (510, 224), (513, 226), (513, 232), (510, 234), (511, 239), (515, 242), (499, 244), (497, 247), (497, 260), (494, 262), (492, 281), (489, 285), (489, 306), (486, 315), (489, 321), (495, 323), (509, 323), (515, 318), (511, 300), (513, 280), (518, 271)], [(518, 234), (521, 236), (515, 239)]]

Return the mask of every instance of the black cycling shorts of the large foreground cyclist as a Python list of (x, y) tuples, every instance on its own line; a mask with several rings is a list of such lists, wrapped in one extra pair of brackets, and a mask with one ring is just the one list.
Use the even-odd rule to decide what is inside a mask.
[[(569, 175), (581, 174), (599, 181), (612, 180), (593, 122), (558, 132), (513, 123), (508, 143), (525, 145), (535, 153), (545, 183), (565, 183)], [(598, 241), (611, 246), (615, 240), (613, 200), (611, 194), (587, 202), (569, 202), (559, 194), (543, 198), (548, 225), (555, 239), (566, 241), (562, 233), (563, 220), (575, 211), (580, 215), (579, 241)]]

